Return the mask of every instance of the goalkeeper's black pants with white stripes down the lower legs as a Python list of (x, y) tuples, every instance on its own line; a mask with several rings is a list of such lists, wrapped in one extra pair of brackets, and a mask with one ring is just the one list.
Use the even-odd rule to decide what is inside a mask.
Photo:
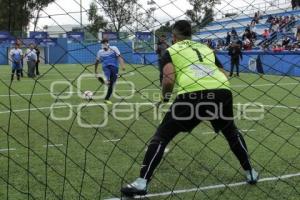
[(211, 122), (221, 131), (244, 170), (250, 170), (248, 150), (233, 120), (232, 93), (227, 89), (204, 90), (177, 96), (159, 125), (146, 152), (140, 177), (151, 180), (168, 143), (179, 132), (191, 132), (201, 121)]

